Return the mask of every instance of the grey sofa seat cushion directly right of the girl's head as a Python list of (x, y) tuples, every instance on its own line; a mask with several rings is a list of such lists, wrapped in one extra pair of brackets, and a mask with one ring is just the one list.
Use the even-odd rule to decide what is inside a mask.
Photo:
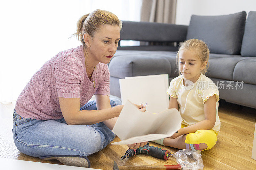
[(236, 64), (244, 59), (244, 57), (225, 57), (209, 59), (210, 65), (205, 75), (211, 78), (233, 80), (233, 72)]

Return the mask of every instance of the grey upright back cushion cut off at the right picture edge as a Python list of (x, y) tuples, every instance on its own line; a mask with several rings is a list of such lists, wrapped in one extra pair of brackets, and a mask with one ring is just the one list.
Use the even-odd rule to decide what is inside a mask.
[(256, 11), (250, 11), (245, 23), (241, 55), (256, 57)]

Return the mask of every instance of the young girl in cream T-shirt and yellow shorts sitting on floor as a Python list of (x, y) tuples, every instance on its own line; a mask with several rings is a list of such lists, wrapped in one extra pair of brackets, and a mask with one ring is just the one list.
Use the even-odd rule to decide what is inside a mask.
[(180, 76), (172, 79), (167, 93), (169, 109), (180, 112), (181, 128), (172, 137), (154, 142), (200, 153), (216, 144), (220, 130), (219, 91), (204, 76), (209, 65), (209, 49), (203, 41), (191, 39), (181, 45), (176, 59)]

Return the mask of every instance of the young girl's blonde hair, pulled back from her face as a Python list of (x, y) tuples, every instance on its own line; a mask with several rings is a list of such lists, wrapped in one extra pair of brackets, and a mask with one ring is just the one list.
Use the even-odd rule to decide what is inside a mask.
[[(206, 43), (202, 40), (197, 40), (197, 39), (190, 39), (190, 40), (185, 41), (180, 46), (179, 51), (176, 56), (176, 64), (177, 64), (178, 70), (179, 70), (179, 66), (178, 66), (179, 53), (180, 53), (180, 51), (183, 51), (183, 50), (195, 51), (195, 54), (201, 61), (201, 64), (204, 63), (205, 61), (207, 61), (206, 67), (204, 68), (204, 70), (201, 71), (203, 74), (205, 74), (207, 72), (207, 69), (209, 68), (208, 60), (209, 60), (209, 55), (210, 55), (210, 50), (207, 47)], [(179, 75), (181, 75), (180, 71), (179, 71)]]

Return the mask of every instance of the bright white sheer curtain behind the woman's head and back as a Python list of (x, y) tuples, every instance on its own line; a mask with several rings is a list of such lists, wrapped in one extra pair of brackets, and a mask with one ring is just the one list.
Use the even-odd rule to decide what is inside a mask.
[(62, 50), (81, 45), (78, 19), (95, 9), (140, 21), (141, 0), (14, 0), (1, 3), (0, 102), (14, 104), (41, 66)]

